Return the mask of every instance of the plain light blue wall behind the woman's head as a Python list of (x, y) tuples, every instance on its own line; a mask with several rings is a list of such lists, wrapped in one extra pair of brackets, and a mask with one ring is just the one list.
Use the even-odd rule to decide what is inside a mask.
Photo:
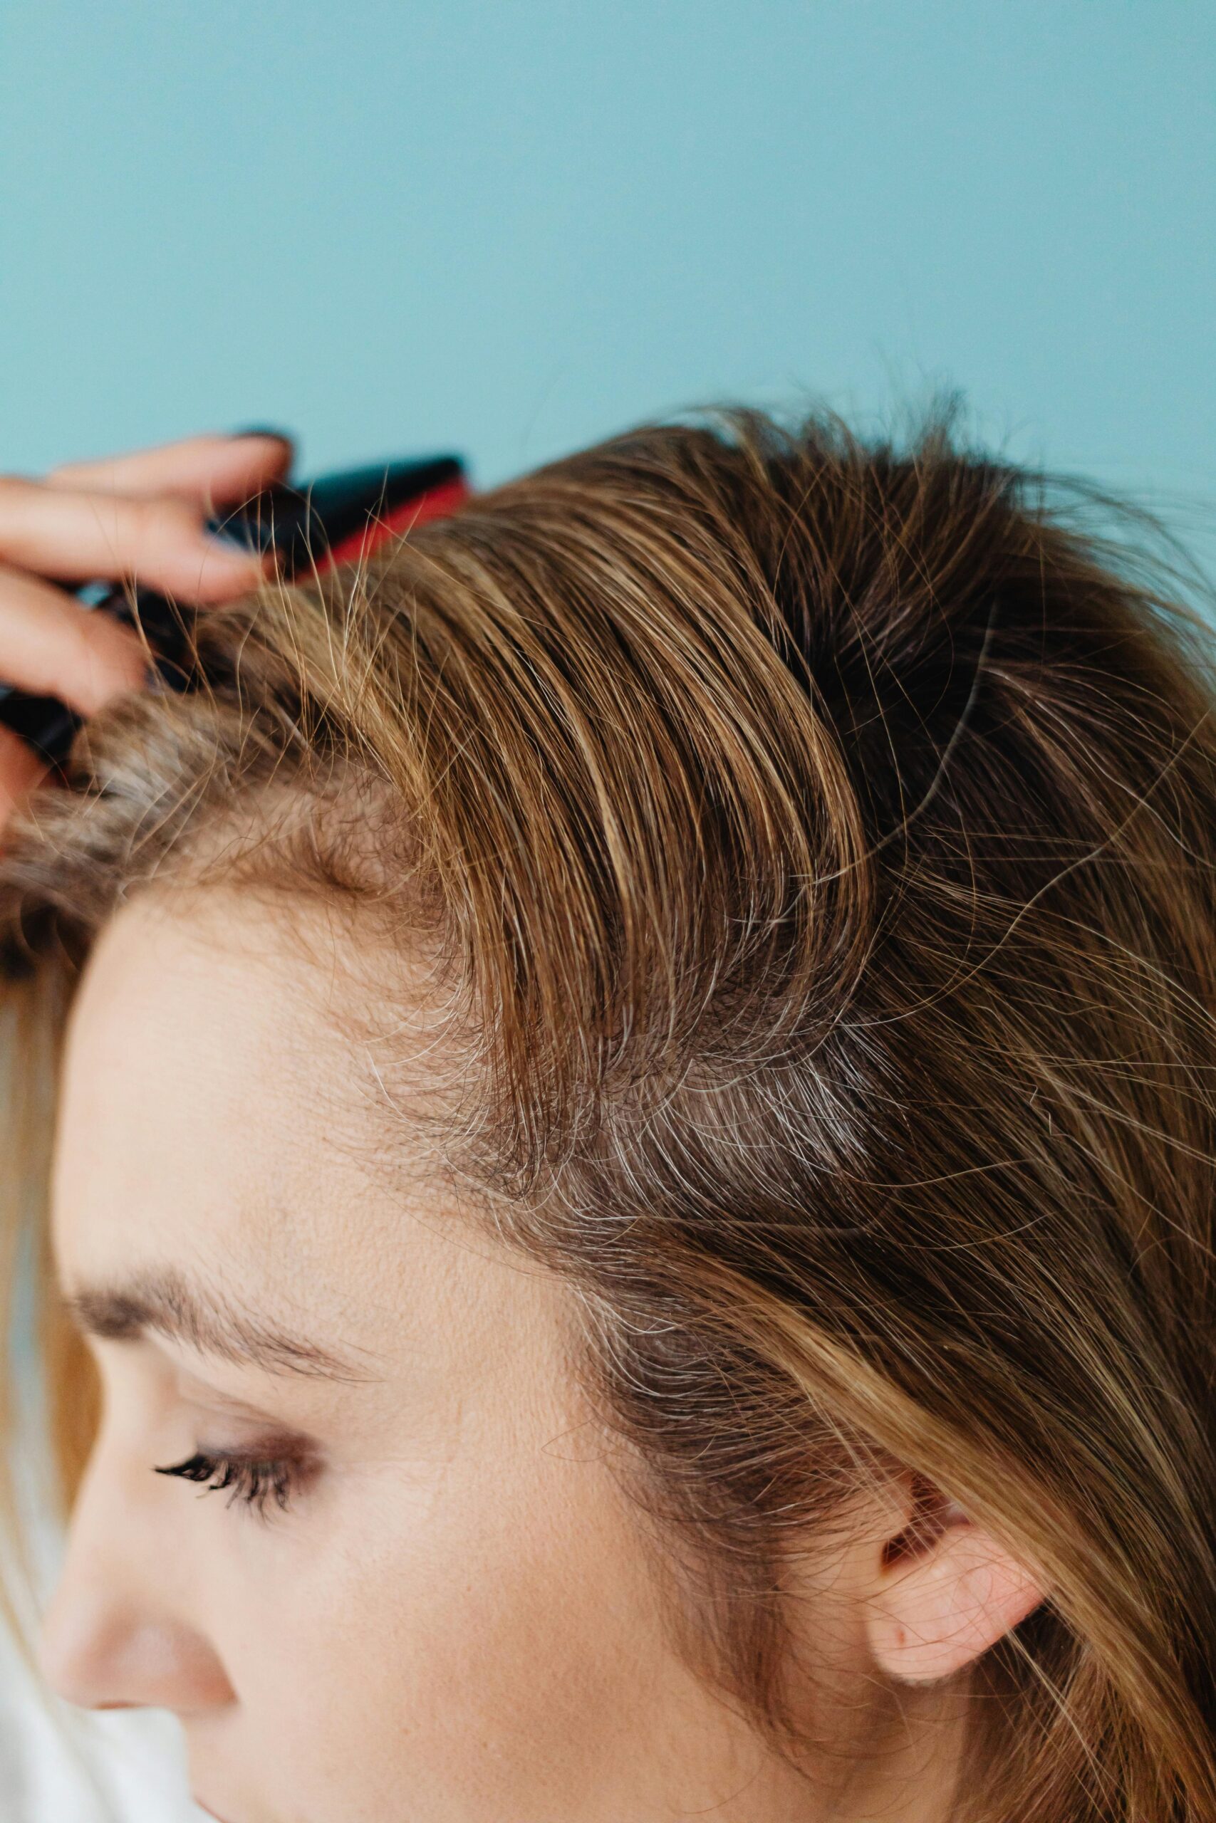
[(0, 467), (937, 385), (1216, 496), (1200, 0), (0, 0)]

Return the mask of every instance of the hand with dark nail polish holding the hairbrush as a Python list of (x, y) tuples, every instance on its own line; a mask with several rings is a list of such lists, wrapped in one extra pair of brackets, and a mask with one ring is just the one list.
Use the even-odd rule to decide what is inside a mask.
[[(140, 689), (148, 662), (139, 634), (55, 582), (131, 578), (195, 605), (246, 594), (273, 560), (226, 545), (204, 521), (290, 467), (292, 445), (257, 432), (67, 463), (35, 481), (0, 476), (0, 680), (58, 696), (78, 715)], [(0, 724), (0, 826), (46, 773)]]

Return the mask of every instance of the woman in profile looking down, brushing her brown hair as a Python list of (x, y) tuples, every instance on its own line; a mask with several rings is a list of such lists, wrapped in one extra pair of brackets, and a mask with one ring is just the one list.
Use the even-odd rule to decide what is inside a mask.
[(737, 412), (255, 589), (202, 514), (286, 459), (0, 496), (0, 669), (91, 713), (2, 862), (49, 1683), (226, 1823), (1216, 1819), (1183, 582)]

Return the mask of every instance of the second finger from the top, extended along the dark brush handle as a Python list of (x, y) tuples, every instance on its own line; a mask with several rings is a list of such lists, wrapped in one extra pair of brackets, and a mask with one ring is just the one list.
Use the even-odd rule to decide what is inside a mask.
[(255, 589), (273, 560), (211, 538), (186, 500), (78, 494), (0, 478), (0, 561), (62, 582), (139, 578), (188, 602)]

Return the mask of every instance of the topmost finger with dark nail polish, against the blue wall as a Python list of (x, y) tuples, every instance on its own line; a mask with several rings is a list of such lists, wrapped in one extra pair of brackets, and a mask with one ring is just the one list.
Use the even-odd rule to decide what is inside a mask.
[(184, 494), (202, 505), (228, 505), (283, 481), (292, 467), (292, 439), (275, 432), (182, 438), (159, 448), (73, 461), (51, 469), (47, 487), (73, 492)]

